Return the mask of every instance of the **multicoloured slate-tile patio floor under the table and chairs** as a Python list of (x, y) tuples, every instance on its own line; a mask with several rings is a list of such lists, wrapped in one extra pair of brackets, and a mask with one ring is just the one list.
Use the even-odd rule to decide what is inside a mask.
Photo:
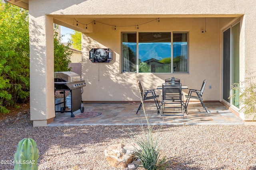
[[(183, 116), (162, 116), (157, 114), (152, 102), (145, 104), (149, 123), (152, 125), (244, 125), (244, 121), (227, 109), (220, 102), (205, 102), (206, 113), (200, 102), (188, 105), (188, 114)], [(89, 118), (73, 118), (70, 113), (58, 113), (48, 126), (74, 125), (139, 125), (146, 124), (143, 109), (138, 114), (139, 103), (84, 103), (84, 111), (99, 111), (102, 114)], [(77, 116), (80, 111), (74, 112)]]

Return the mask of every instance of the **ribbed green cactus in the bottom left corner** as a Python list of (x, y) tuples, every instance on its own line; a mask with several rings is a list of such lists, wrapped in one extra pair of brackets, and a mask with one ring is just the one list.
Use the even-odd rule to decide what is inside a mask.
[(38, 170), (37, 160), (36, 142), (30, 138), (22, 139), (14, 154), (14, 170)]

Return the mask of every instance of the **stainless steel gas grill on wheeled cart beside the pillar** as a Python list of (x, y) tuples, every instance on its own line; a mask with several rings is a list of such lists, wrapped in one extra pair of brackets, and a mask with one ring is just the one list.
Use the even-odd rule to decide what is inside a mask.
[[(55, 112), (71, 112), (71, 117), (75, 117), (73, 114), (74, 111), (80, 109), (81, 113), (84, 112), (84, 107), (81, 106), (81, 93), (83, 91), (83, 88), (86, 86), (86, 83), (84, 80), (80, 78), (79, 74), (76, 74), (75, 72), (71, 71), (65, 71), (65, 72), (54, 72), (54, 91), (60, 90), (62, 91), (61, 94), (64, 95), (64, 102), (61, 102), (59, 104), (64, 103), (64, 107), (61, 107), (60, 111)], [(66, 110), (66, 98), (65, 98), (65, 91), (69, 90), (71, 94), (71, 108), (68, 111)], [(55, 104), (55, 106), (58, 104)]]

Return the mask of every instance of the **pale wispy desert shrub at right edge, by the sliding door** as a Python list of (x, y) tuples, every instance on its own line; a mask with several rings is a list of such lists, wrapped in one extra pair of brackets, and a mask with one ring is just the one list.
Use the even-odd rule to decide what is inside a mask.
[[(253, 79), (256, 76), (251, 76), (252, 73), (249, 73), (249, 77), (245, 78), (244, 81), (240, 81), (239, 83), (232, 84), (232, 89), (234, 90), (233, 98), (236, 98), (237, 95), (239, 96), (239, 107), (245, 115), (245, 117), (251, 117), (254, 121), (256, 118), (256, 83)], [(230, 96), (231, 98), (231, 96)]]

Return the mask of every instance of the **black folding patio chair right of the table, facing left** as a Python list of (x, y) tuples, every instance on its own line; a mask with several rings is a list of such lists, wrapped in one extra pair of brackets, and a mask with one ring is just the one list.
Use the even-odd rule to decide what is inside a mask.
[(202, 106), (204, 107), (206, 113), (208, 113), (206, 107), (204, 106), (204, 102), (203, 102), (203, 99), (202, 99), (205, 85), (206, 85), (206, 80), (203, 81), (201, 90), (189, 89), (188, 95), (185, 95), (185, 97), (187, 98), (186, 103), (185, 103), (185, 108), (186, 108), (185, 113), (186, 114), (188, 114), (187, 108), (188, 108), (188, 102), (189, 102), (190, 99), (198, 99), (198, 100), (200, 100), (200, 102), (201, 102)]

